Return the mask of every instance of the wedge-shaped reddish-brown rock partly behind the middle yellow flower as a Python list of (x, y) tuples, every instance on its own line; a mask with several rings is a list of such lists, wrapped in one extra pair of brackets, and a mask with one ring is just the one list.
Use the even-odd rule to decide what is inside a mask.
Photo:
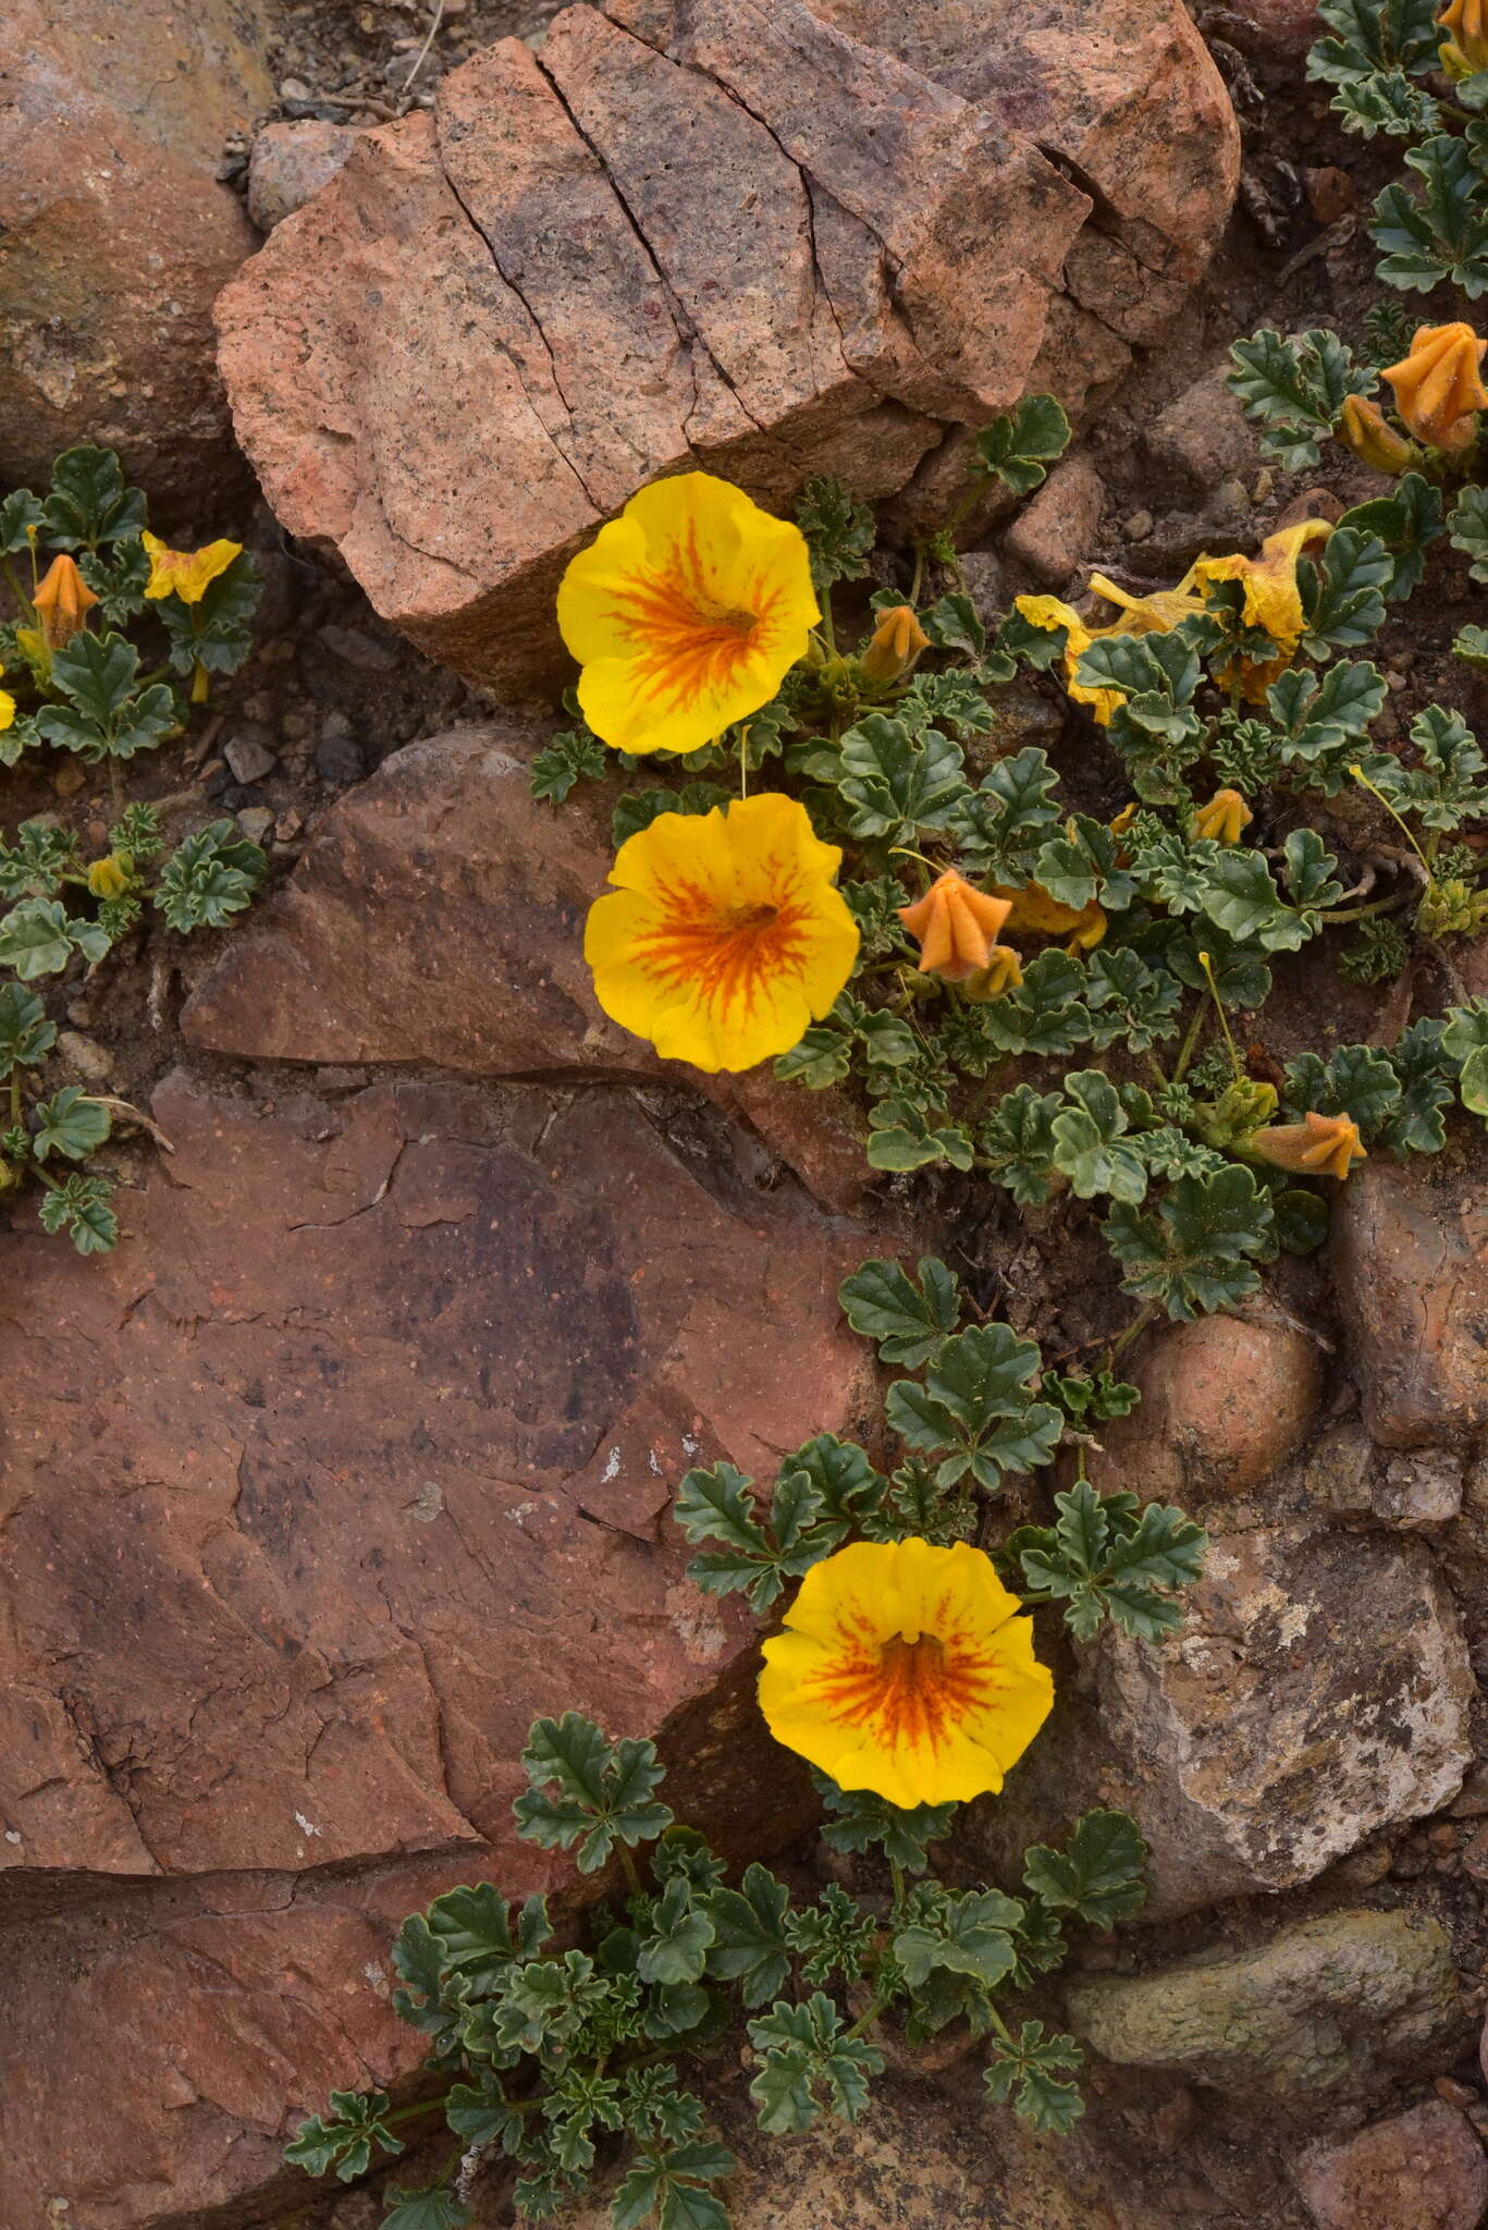
[(504, 718), (386, 758), (194, 992), (187, 1044), (261, 1061), (696, 1084), (819, 1200), (850, 1209), (872, 1171), (834, 1093), (776, 1084), (767, 1066), (703, 1077), (600, 1012), (582, 939), (613, 859), (609, 801), (535, 801), (540, 740)]

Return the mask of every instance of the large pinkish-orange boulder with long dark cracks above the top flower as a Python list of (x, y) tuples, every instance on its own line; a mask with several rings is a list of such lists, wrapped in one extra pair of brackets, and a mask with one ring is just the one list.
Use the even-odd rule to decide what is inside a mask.
[(1178, 0), (1064, 13), (616, 0), (475, 56), (221, 297), (270, 504), (533, 682), (567, 558), (658, 473), (877, 497), (1031, 379), (1078, 401), (1202, 270), (1236, 132)]

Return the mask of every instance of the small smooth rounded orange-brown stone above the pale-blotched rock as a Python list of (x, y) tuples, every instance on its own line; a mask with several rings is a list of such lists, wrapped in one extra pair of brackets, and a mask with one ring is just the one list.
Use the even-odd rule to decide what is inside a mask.
[(1227, 1501), (1287, 1463), (1316, 1423), (1316, 1342), (1263, 1316), (1205, 1316), (1156, 1336), (1138, 1363), (1140, 1405), (1102, 1429), (1102, 1487), (1144, 1499)]

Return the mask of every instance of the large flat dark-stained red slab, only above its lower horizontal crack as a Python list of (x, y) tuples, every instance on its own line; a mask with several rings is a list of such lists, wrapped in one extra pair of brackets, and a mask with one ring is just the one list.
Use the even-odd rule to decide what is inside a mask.
[(0, 1882), (491, 1844), (531, 1884), (531, 1717), (654, 1730), (747, 1646), (667, 1503), (852, 1427), (861, 1235), (620, 1090), (176, 1077), (154, 1113), (118, 1253), (0, 1242)]

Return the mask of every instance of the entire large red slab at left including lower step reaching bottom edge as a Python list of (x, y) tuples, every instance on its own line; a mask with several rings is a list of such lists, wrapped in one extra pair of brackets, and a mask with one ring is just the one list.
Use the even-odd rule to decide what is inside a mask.
[[(790, 1829), (752, 1628), (663, 1514), (689, 1461), (774, 1474), (866, 1392), (861, 1233), (620, 1088), (176, 1077), (154, 1115), (132, 1244), (0, 1242), (7, 2230), (185, 2221), (328, 2083), (406, 2069), (388, 1927), (551, 1875), (509, 1815), (535, 1713), (674, 1728), (736, 1835), (761, 1788)], [(127, 2103), (83, 2098), (100, 2034)]]

